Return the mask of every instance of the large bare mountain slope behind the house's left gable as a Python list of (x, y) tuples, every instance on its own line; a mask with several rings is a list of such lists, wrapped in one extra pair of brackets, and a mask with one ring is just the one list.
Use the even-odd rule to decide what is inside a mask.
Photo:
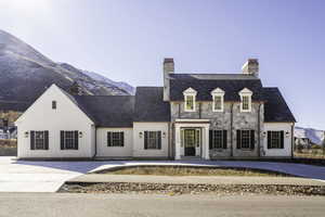
[(0, 110), (24, 111), (48, 87), (68, 90), (78, 82), (82, 92), (95, 95), (133, 94), (126, 82), (48, 59), (18, 38), (0, 30)]

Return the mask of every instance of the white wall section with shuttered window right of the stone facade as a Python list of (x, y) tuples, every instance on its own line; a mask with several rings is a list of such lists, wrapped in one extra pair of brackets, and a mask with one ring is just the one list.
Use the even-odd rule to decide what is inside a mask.
[[(263, 138), (263, 150), (264, 156), (291, 156), (291, 123), (265, 123), (264, 124), (264, 132), (265, 136)], [(269, 130), (284, 130), (284, 149), (268, 149), (268, 131)], [(289, 132), (286, 136), (286, 132)]]

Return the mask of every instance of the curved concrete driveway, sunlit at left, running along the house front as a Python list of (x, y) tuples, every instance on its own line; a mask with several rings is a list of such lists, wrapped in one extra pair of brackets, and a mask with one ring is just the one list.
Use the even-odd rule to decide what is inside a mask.
[(66, 180), (116, 166), (191, 165), (269, 169), (325, 181), (325, 167), (303, 164), (239, 161), (107, 161), (38, 162), (0, 156), (0, 192), (55, 192)]

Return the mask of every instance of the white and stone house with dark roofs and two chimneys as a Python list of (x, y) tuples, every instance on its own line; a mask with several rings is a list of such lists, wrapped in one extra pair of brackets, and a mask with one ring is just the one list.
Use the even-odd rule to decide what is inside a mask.
[(15, 122), (20, 158), (291, 157), (295, 117), (259, 63), (240, 74), (177, 74), (135, 95), (72, 95), (52, 85)]

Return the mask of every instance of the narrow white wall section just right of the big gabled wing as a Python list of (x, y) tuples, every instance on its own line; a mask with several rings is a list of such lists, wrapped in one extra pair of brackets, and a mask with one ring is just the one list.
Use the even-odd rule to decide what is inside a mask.
[[(125, 132), (125, 146), (107, 146), (107, 132)], [(100, 157), (130, 157), (132, 156), (133, 130), (132, 128), (98, 128), (98, 154)]]

